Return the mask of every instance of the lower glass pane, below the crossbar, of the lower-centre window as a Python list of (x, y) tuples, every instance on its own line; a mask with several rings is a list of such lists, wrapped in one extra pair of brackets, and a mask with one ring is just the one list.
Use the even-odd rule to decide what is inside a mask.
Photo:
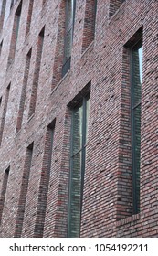
[(81, 152), (71, 159), (72, 172), (70, 183), (68, 237), (79, 237), (81, 209)]

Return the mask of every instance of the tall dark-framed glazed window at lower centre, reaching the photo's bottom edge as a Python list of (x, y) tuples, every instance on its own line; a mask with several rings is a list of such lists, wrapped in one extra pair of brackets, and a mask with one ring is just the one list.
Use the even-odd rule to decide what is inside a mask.
[(72, 114), (68, 237), (79, 237), (80, 231), (89, 109), (89, 97), (83, 98)]

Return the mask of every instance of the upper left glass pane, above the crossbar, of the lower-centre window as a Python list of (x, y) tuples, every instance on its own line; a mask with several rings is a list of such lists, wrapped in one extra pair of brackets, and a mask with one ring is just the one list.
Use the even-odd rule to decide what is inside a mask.
[(83, 122), (83, 105), (73, 113), (73, 148), (72, 155), (79, 152), (82, 148), (82, 122)]

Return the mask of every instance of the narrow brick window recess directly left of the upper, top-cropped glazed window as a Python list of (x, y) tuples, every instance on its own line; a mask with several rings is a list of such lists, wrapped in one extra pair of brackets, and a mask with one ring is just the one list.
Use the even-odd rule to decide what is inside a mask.
[(28, 118), (34, 114), (35, 108), (36, 108), (37, 87), (38, 87), (39, 71), (40, 71), (41, 58), (42, 58), (44, 35), (45, 35), (45, 27), (43, 27), (43, 29), (39, 33), (39, 36), (37, 39), (37, 56), (36, 56), (35, 71), (34, 71), (34, 77), (33, 77), (33, 85), (32, 85), (32, 91), (31, 91), (31, 99), (30, 99), (30, 105), (29, 105)]

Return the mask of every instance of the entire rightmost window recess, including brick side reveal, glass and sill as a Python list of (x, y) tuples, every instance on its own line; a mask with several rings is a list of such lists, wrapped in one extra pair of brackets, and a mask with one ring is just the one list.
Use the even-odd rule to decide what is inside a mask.
[(142, 27), (122, 50), (117, 220), (140, 211)]

